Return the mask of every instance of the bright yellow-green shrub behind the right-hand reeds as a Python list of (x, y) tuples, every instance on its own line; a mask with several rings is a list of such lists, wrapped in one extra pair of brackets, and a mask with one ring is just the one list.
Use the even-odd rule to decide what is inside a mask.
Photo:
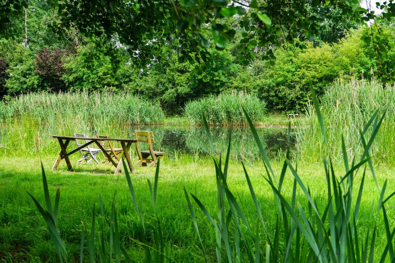
[(310, 97), (310, 81), (318, 95), (343, 73), (360, 77), (370, 75), (374, 53), (365, 48), (360, 37), (362, 29), (354, 30), (347, 38), (332, 45), (312, 44), (301, 51), (295, 47), (278, 49), (276, 64), (267, 67), (262, 61), (252, 66), (256, 80), (255, 92), (267, 101), (268, 109), (290, 113), (302, 112)]

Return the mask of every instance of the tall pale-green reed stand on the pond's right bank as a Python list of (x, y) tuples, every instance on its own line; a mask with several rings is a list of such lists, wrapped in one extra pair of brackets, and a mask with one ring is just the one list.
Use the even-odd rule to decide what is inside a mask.
[(314, 108), (307, 107), (308, 128), (301, 128), (297, 133), (299, 157), (304, 162), (318, 162), (323, 156), (331, 155), (342, 162), (342, 145), (339, 143), (342, 135), (349, 156), (360, 156), (363, 153), (360, 131), (376, 110), (379, 114), (386, 110), (386, 115), (371, 148), (372, 160), (376, 164), (395, 165), (392, 157), (395, 154), (395, 86), (383, 86), (375, 79), (342, 77), (327, 88), (321, 98), (321, 111), (328, 148)]

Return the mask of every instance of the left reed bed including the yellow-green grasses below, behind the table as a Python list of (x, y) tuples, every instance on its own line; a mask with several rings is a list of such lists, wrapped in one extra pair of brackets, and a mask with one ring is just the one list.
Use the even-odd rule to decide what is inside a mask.
[(53, 154), (45, 134), (133, 136), (130, 125), (162, 122), (159, 103), (130, 93), (29, 93), (0, 102), (0, 155)]

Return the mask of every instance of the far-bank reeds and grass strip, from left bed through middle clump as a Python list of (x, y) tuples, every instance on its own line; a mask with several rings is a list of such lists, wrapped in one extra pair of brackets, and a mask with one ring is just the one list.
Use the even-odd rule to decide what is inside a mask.
[(209, 126), (247, 126), (241, 106), (251, 114), (260, 128), (288, 128), (288, 122), (300, 125), (304, 116), (289, 118), (285, 113), (267, 112), (265, 102), (251, 94), (232, 93), (208, 96), (188, 102), (182, 114), (167, 115), (158, 101), (129, 92), (31, 92), (0, 101), (0, 125), (10, 119), (28, 117), (40, 122), (54, 119), (105, 119), (119, 125), (184, 125), (203, 126), (202, 114)]

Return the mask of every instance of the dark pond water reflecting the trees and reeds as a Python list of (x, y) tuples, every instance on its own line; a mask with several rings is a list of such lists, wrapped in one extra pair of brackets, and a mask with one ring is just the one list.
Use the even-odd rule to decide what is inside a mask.
[[(154, 132), (154, 148), (166, 151), (171, 158), (180, 154), (205, 155), (210, 149), (204, 127), (188, 126), (130, 126), (129, 136), (134, 130), (148, 130)], [(265, 146), (269, 157), (278, 156), (287, 148), (287, 128), (256, 128), (261, 142)], [(217, 153), (226, 154), (231, 134), (231, 157), (237, 160), (255, 160), (260, 157), (254, 136), (248, 127), (211, 127), (214, 148)], [(292, 135), (292, 134), (291, 134)], [(290, 146), (295, 140), (291, 136)]]

